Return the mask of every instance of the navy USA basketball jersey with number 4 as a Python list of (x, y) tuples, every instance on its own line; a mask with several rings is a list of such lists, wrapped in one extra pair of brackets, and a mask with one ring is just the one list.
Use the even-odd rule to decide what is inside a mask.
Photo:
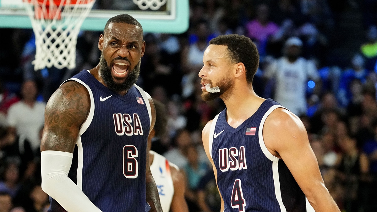
[(224, 211), (314, 212), (284, 161), (264, 144), (263, 125), (276, 108), (283, 107), (265, 100), (235, 129), (227, 123), (226, 109), (213, 120), (209, 149)]

